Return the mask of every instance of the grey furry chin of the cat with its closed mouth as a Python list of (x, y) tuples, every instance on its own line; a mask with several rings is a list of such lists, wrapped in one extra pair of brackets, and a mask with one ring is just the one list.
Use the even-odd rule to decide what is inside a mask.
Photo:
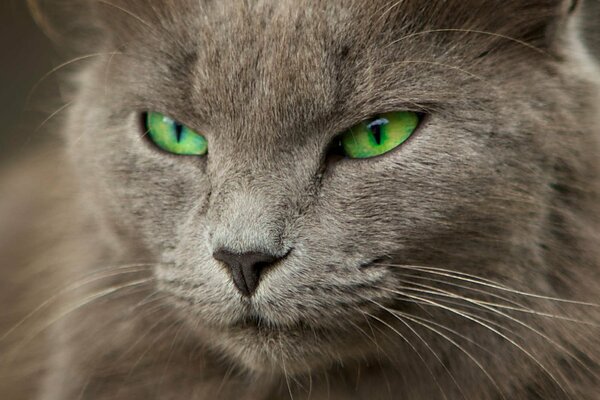
[[(351, 316), (325, 318), (329, 323), (314, 318), (278, 320), (246, 302), (230, 320), (202, 318), (199, 323), (201, 315), (193, 312), (193, 304), (183, 299), (177, 303), (200, 340), (248, 371), (279, 371), (285, 367), (289, 373), (303, 374), (307, 368), (326, 368), (340, 357), (370, 357), (371, 342), (377, 339), (364, 333), (377, 326), (376, 321), (364, 327), (362, 320), (354, 321)], [(196, 318), (190, 318), (192, 315)]]

